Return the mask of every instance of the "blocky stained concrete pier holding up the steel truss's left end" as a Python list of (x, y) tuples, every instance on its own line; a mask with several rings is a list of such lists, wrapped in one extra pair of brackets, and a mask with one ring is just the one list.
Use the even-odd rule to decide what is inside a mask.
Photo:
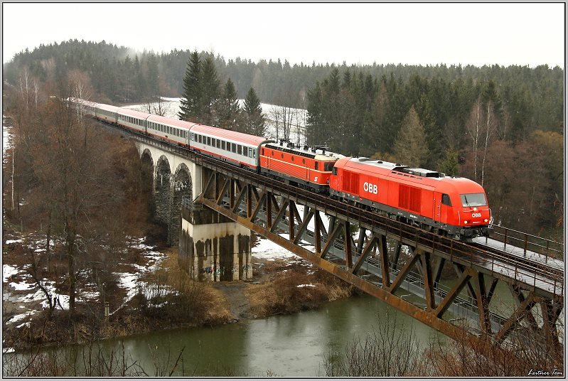
[(201, 204), (184, 202), (179, 262), (193, 279), (250, 279), (250, 230)]

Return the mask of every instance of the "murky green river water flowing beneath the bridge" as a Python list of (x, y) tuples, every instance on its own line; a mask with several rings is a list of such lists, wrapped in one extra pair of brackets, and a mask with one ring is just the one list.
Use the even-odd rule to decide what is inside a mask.
[[(124, 352), (149, 376), (324, 377), (323, 359), (355, 337), (365, 339), (389, 313), (397, 334), (412, 327), (420, 348), (441, 338), (436, 331), (371, 296), (353, 296), (293, 315), (240, 321), (212, 328), (145, 333), (103, 340), (102, 348)], [(49, 350), (48, 350), (49, 351)], [(79, 355), (82, 363), (82, 355)]]

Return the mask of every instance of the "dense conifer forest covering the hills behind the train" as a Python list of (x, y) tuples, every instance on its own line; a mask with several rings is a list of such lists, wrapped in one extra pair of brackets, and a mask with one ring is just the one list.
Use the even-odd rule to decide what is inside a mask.
[[(98, 102), (180, 97), (191, 54), (63, 41), (16, 54), (4, 64), (4, 86), (25, 83), (33, 90), (75, 73), (89, 79)], [(309, 144), (472, 178), (486, 188), (496, 224), (562, 240), (562, 68), (291, 65), (198, 56), (213, 63), (216, 86), (227, 83), (219, 94), (243, 99), (253, 89), (261, 102), (307, 109)]]

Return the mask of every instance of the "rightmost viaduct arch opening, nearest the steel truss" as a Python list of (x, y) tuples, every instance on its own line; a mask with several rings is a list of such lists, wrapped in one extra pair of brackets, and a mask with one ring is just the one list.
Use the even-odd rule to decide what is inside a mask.
[[(193, 203), (191, 171), (185, 163), (176, 168), (176, 173), (171, 178), (171, 229), (168, 230), (168, 241), (171, 245), (177, 245), (181, 231), (181, 203), (187, 198)], [(169, 238), (171, 237), (171, 239)]]

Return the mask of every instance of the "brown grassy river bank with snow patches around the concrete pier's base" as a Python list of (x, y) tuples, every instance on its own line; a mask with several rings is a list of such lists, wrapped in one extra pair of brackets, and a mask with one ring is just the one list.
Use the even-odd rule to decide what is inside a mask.
[[(97, 281), (85, 281), (71, 321), (61, 263), (65, 259), (51, 254), (50, 271), (43, 273), (43, 279), (36, 277), (55, 301), (49, 311), (47, 296), (31, 271), (41, 237), (9, 234), (8, 238), (3, 245), (4, 351), (220, 326), (318, 308), (353, 293), (348, 284), (265, 240), (253, 248), (252, 279), (223, 283), (194, 282), (178, 266), (176, 248), (134, 240), (129, 252), (119, 256), (109, 271), (115, 279), (112, 292), (107, 285), (106, 294), (101, 293)], [(95, 278), (94, 274), (88, 277)]]

